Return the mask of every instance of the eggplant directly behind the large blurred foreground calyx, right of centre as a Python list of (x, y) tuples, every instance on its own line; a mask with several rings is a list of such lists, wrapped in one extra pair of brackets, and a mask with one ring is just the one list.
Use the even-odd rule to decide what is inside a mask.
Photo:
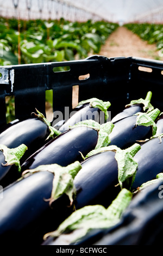
[[(118, 176), (120, 176), (121, 167), (116, 159), (117, 149), (115, 146), (108, 146), (97, 150), (97, 152), (92, 150), (92, 152), (95, 151), (95, 154), (87, 156), (81, 163), (82, 169), (74, 178), (74, 186), (77, 190), (76, 199), (74, 199), (76, 209), (95, 204), (107, 208), (121, 191), (122, 186), (118, 185), (120, 184)], [(140, 145), (135, 143), (130, 148), (122, 150), (121, 153), (123, 155), (126, 151), (134, 156), (139, 150)], [(132, 162), (131, 159), (129, 161)], [(128, 176), (123, 181), (123, 187), (130, 188), (132, 176)]]

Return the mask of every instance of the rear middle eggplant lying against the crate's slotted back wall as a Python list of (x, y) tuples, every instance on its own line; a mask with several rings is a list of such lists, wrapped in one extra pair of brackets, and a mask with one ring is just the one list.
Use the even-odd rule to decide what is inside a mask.
[(79, 102), (78, 106), (73, 110), (75, 113), (63, 125), (61, 125), (59, 131), (65, 132), (69, 129), (69, 126), (73, 126), (79, 123), (79, 121), (89, 119), (102, 123), (102, 120), (100, 119), (101, 111), (103, 111), (105, 115), (103, 123), (106, 122), (109, 117), (107, 109), (110, 107), (110, 105), (111, 104), (109, 101), (102, 101), (97, 98)]

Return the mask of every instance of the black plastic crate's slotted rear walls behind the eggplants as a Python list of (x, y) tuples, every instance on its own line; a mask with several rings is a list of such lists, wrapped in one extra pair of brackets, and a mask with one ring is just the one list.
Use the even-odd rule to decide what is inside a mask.
[[(56, 67), (68, 71), (54, 72)], [(139, 67), (150, 70), (141, 71)], [(72, 109), (72, 87), (79, 86), (79, 101), (98, 97), (110, 101), (113, 117), (133, 99), (145, 98), (152, 91), (152, 105), (162, 111), (163, 62), (133, 57), (92, 56), (83, 60), (0, 68), (0, 124), (6, 124), (5, 96), (15, 96), (15, 118), (25, 119), (35, 108), (46, 115), (45, 93), (53, 89), (53, 111)], [(148, 72), (150, 71), (150, 72)], [(89, 74), (89, 78), (79, 80)]]

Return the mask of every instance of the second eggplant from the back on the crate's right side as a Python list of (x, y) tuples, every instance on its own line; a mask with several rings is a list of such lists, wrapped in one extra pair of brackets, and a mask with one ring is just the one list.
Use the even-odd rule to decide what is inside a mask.
[[(117, 147), (125, 149), (137, 141), (145, 140), (155, 135), (156, 125), (154, 120), (156, 117), (158, 117), (159, 114), (159, 109), (155, 108), (148, 114), (139, 113), (137, 115), (131, 115), (130, 117), (126, 117), (117, 121), (114, 123), (114, 129), (110, 134), (110, 145), (117, 145)], [(145, 119), (142, 120), (142, 117), (145, 117)], [(148, 117), (150, 120), (152, 120), (151, 124), (153, 125), (148, 124), (149, 126), (146, 126), (149, 121)], [(137, 125), (138, 119), (141, 121)]]

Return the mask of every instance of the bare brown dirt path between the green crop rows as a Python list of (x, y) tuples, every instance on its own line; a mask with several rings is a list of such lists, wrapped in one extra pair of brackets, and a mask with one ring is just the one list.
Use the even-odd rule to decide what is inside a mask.
[(100, 55), (112, 57), (141, 57), (163, 60), (156, 45), (149, 45), (126, 27), (118, 27), (102, 46)]

